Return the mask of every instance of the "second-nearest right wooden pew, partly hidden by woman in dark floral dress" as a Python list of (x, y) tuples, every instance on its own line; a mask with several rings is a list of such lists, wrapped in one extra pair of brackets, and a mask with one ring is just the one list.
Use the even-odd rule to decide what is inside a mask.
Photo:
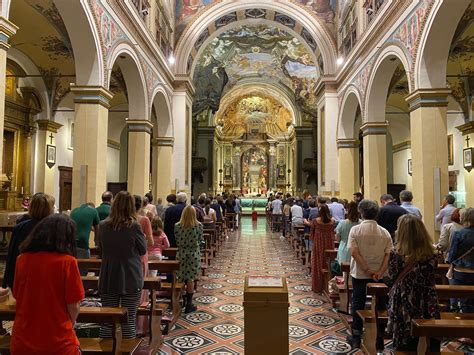
[[(364, 322), (362, 350), (367, 354), (373, 354), (376, 352), (375, 339), (377, 336), (377, 324), (385, 324), (388, 321), (387, 311), (379, 311), (377, 309), (378, 303), (382, 298), (385, 298), (388, 295), (388, 292), (389, 288), (384, 283), (369, 283), (367, 285), (367, 295), (371, 296), (370, 310), (357, 311), (357, 314)], [(436, 292), (439, 300), (448, 300), (450, 298), (474, 298), (474, 286), (436, 285)], [(474, 314), (441, 312), (441, 319), (474, 319)], [(461, 335), (459, 337), (461, 337)]]

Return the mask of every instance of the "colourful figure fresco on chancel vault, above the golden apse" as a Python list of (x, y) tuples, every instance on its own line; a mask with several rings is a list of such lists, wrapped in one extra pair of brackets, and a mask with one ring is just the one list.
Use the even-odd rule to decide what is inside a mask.
[(193, 114), (216, 112), (225, 92), (249, 80), (283, 85), (303, 111), (313, 112), (319, 72), (307, 47), (288, 32), (263, 24), (240, 26), (212, 40), (199, 57)]

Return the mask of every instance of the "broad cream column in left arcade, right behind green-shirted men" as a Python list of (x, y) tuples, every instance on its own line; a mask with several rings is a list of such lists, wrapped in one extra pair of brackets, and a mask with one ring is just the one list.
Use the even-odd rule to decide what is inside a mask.
[(72, 208), (100, 203), (107, 182), (107, 131), (113, 94), (102, 86), (71, 85), (74, 94)]

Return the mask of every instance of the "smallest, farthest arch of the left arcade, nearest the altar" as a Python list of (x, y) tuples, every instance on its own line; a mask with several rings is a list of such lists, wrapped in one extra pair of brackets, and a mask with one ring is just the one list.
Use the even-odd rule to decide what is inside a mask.
[[(174, 137), (171, 112), (171, 100), (163, 86), (158, 86), (152, 96), (151, 110), (155, 110), (156, 121), (153, 122), (154, 137)], [(151, 112), (150, 112), (150, 117)]]

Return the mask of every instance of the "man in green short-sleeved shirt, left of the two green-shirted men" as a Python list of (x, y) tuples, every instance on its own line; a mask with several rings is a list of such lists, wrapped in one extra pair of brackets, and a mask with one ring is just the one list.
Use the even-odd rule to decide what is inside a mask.
[(94, 228), (94, 234), (97, 236), (100, 222), (99, 214), (90, 204), (84, 203), (73, 209), (70, 217), (76, 222), (77, 258), (88, 259), (90, 258), (89, 236), (92, 227)]

